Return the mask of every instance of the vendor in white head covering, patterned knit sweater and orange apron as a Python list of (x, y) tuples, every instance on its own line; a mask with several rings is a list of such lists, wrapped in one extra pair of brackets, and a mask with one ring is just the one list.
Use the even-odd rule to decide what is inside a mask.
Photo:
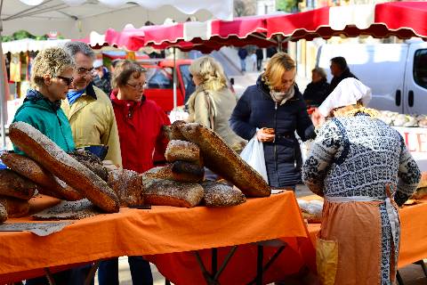
[(329, 117), (303, 166), (303, 180), (324, 197), (318, 274), (328, 284), (392, 284), (399, 257), (399, 209), (420, 170), (403, 138), (364, 107), (371, 90), (341, 81), (318, 113)]

